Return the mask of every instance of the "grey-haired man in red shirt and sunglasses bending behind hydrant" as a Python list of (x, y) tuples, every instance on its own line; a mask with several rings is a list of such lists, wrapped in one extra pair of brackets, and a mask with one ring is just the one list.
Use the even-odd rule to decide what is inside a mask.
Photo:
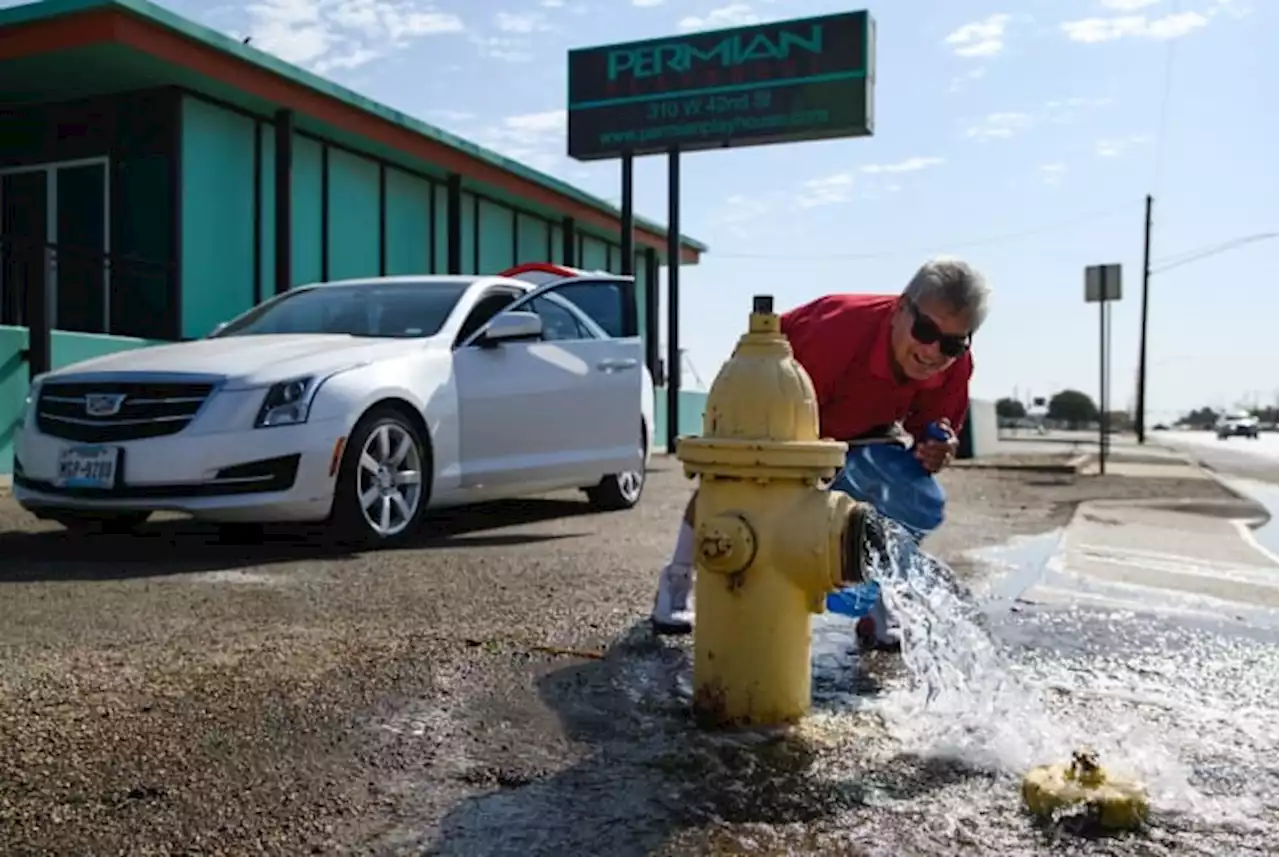
[[(813, 380), (823, 437), (855, 440), (906, 431), (932, 473), (955, 457), (969, 411), (969, 344), (987, 316), (989, 290), (965, 262), (927, 262), (901, 295), (832, 294), (782, 316), (782, 333)], [(931, 425), (945, 440), (931, 437)], [(654, 600), (658, 633), (692, 631), (694, 501), (689, 501), (671, 562)], [(876, 622), (876, 619), (879, 619)], [(887, 615), (863, 629), (870, 643), (893, 646)]]

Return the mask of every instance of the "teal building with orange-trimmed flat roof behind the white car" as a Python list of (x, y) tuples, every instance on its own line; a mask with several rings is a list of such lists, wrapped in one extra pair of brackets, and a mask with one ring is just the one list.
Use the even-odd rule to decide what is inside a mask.
[[(658, 269), (707, 248), (634, 235), (657, 367)], [(0, 10), (0, 473), (32, 366), (200, 338), (303, 283), (547, 260), (623, 272), (620, 212), (143, 0)]]

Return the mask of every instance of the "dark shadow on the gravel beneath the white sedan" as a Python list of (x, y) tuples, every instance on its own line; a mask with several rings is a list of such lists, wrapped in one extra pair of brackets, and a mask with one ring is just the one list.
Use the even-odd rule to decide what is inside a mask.
[[(504, 532), (513, 527), (596, 514), (585, 500), (524, 499), (429, 513), (415, 537), (390, 550), (515, 547), (591, 535)], [(63, 528), (0, 532), (0, 583), (92, 581), (228, 570), (357, 551), (319, 527), (218, 528), (189, 519), (157, 521), (132, 535), (72, 533)]]

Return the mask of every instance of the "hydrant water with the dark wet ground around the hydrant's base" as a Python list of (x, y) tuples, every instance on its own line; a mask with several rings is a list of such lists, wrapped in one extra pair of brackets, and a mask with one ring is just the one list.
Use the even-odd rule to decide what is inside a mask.
[[(544, 775), (500, 767), (499, 782), (511, 785), (477, 788), (453, 802), (426, 842), (410, 828), (385, 853), (1277, 853), (1275, 634), (1098, 609), (1038, 610), (998, 585), (973, 597), (946, 565), (888, 530), (872, 576), (902, 624), (902, 656), (861, 656), (851, 619), (815, 617), (814, 711), (799, 729), (696, 729), (691, 641), (654, 638), (639, 624), (605, 657), (538, 680), (575, 743), (575, 761)], [(1050, 533), (1037, 550), (1016, 546), (1004, 559), (1043, 562), (1055, 540)], [(470, 744), (449, 738), (463, 734), (465, 709), (415, 716), (426, 724), (415, 734), (435, 734), (451, 769), (493, 765), (468, 759)], [(1023, 775), (1068, 761), (1082, 744), (1114, 773), (1146, 783), (1148, 829), (1093, 838), (1028, 817)]]

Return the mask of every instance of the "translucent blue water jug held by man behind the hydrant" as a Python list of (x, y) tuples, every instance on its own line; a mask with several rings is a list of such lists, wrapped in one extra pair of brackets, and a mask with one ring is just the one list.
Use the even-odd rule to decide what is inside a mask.
[[(936, 440), (947, 439), (946, 431), (937, 423), (931, 425), (925, 434)], [(916, 541), (937, 530), (946, 515), (947, 498), (942, 486), (910, 449), (896, 443), (851, 446), (831, 490), (870, 504), (908, 530)], [(870, 581), (828, 594), (827, 609), (860, 619), (878, 601), (879, 583)]]

